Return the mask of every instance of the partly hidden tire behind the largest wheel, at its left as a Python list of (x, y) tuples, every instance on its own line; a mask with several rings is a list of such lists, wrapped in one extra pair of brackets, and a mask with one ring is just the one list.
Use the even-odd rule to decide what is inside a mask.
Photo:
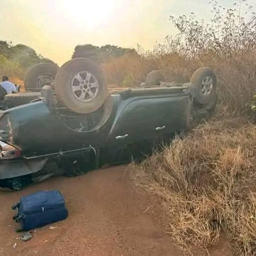
[(27, 71), (24, 77), (25, 89), (42, 88), (55, 80), (59, 67), (51, 63), (38, 63)]

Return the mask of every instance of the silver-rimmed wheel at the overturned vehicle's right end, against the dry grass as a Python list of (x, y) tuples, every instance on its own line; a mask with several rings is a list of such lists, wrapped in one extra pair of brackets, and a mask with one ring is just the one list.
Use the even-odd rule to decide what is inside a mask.
[(208, 104), (215, 101), (217, 77), (210, 67), (196, 70), (190, 80), (194, 88), (194, 101), (198, 104)]

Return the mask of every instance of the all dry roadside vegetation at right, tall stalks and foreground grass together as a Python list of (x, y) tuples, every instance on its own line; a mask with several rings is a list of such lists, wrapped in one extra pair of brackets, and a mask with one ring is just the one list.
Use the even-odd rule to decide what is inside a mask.
[(256, 14), (245, 0), (230, 9), (210, 5), (211, 24), (193, 13), (170, 17), (179, 33), (141, 61), (149, 59), (175, 82), (212, 67), (219, 80), (216, 115), (132, 165), (134, 181), (159, 196), (171, 239), (188, 253), (192, 244), (207, 250), (224, 235), (238, 255), (256, 255)]

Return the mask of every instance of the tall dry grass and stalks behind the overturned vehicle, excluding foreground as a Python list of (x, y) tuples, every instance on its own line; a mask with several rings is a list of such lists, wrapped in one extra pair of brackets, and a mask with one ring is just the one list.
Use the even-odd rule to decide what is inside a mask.
[(201, 66), (212, 67), (218, 76), (219, 99), (229, 112), (248, 113), (247, 103), (256, 92), (256, 13), (246, 0), (224, 8), (211, 0), (212, 18), (207, 24), (193, 13), (170, 17), (178, 29), (152, 51), (137, 49), (104, 64), (109, 83), (137, 86), (147, 73), (162, 70), (168, 82), (189, 82)]

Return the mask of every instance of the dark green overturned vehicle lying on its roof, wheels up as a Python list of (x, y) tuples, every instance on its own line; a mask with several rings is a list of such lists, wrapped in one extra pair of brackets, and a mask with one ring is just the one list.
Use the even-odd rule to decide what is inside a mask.
[(0, 112), (0, 187), (19, 190), (144, 155), (215, 109), (211, 68), (198, 69), (186, 84), (163, 80), (154, 71), (139, 88), (111, 89), (91, 60), (68, 61), (32, 102)]

